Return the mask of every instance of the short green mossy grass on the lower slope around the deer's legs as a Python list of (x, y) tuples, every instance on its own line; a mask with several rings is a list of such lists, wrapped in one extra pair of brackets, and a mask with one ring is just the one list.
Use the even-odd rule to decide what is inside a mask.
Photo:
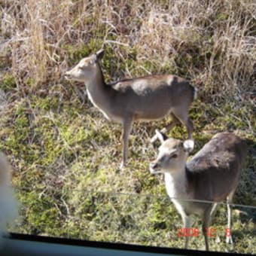
[[(59, 87), (51, 90), (59, 92)], [(169, 118), (136, 123), (130, 138), (129, 164), (120, 171), (121, 127), (105, 120), (90, 102), (81, 102), (71, 88), (68, 90), (72, 96), (62, 97), (61, 102), (54, 93), (17, 99), (2, 120), (0, 149), (14, 159), (13, 184), (22, 203), (23, 216), (14, 230), (183, 247), (183, 239), (177, 236), (181, 218), (166, 196), (163, 178), (148, 171), (157, 147), (149, 145), (148, 139)], [(240, 136), (254, 139), (245, 112), (246, 120), (253, 123), (248, 103), (238, 107), (230, 102), (215, 108), (198, 99), (190, 109), (196, 130), (194, 152), (223, 130), (236, 130)], [(177, 126), (168, 135), (184, 139), (186, 133), (183, 126)], [(256, 205), (254, 164), (255, 157), (248, 155), (235, 203)], [(233, 214), (235, 251), (251, 253), (256, 242), (254, 215), (249, 209), (242, 211), (248, 212), (241, 214), (243, 219)], [(221, 242), (211, 239), (212, 250), (232, 251), (224, 243), (226, 222), (221, 206), (213, 226)], [(200, 222), (194, 227), (200, 229)], [(202, 234), (192, 238), (190, 246), (203, 248)]]

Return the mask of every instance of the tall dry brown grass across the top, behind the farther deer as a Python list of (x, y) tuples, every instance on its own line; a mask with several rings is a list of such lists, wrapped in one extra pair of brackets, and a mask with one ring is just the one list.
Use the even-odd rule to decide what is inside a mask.
[(114, 49), (114, 62), (136, 51), (126, 76), (174, 72), (217, 97), (255, 86), (254, 1), (5, 0), (1, 10), (5, 56), (17, 84), (32, 91), (59, 81), (69, 58), (63, 46), (93, 39)]

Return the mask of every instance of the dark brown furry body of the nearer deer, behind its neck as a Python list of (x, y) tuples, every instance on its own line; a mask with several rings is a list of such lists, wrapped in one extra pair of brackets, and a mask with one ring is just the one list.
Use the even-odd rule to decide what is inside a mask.
[(187, 178), (194, 187), (194, 199), (225, 200), (239, 182), (246, 148), (245, 141), (233, 133), (218, 133), (204, 145), (187, 163)]

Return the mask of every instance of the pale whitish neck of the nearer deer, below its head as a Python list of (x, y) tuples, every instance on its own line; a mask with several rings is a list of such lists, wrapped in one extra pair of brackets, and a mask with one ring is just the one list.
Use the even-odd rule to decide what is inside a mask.
[(175, 169), (172, 172), (165, 172), (164, 179), (166, 183), (166, 190), (169, 197), (187, 199), (188, 180), (185, 166), (181, 169)]

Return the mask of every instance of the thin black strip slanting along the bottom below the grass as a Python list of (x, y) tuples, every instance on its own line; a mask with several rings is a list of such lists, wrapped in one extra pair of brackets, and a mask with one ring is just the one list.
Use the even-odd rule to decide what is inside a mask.
[(112, 250), (121, 251), (138, 251), (138, 252), (150, 252), (158, 254), (180, 254), (180, 255), (218, 255), (218, 254), (236, 254), (236, 255), (254, 255), (254, 254), (240, 254), (225, 251), (198, 251), (189, 250), (181, 248), (167, 248), (167, 247), (157, 247), (157, 246), (145, 246), (145, 245), (131, 245), (126, 243), (115, 243), (115, 242), (96, 242), (90, 240), (79, 240), (79, 239), (67, 239), (52, 236), (34, 236), (22, 233), (11, 233), (10, 239), (19, 239), (29, 242), (46, 242), (55, 243), (59, 245), (77, 245), (84, 247), (94, 247), (94, 248), (106, 248)]

